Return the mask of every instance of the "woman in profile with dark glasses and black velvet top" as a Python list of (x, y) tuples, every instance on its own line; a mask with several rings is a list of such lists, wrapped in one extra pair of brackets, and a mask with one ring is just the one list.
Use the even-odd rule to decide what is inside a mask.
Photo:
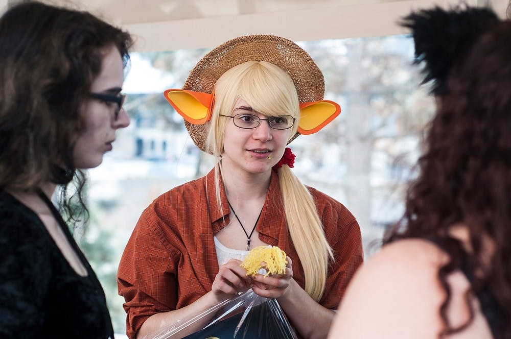
[(131, 44), (89, 13), (38, 2), (0, 18), (1, 337), (113, 337), (103, 289), (50, 198), (60, 185), (68, 221), (86, 218), (80, 169), (129, 124)]

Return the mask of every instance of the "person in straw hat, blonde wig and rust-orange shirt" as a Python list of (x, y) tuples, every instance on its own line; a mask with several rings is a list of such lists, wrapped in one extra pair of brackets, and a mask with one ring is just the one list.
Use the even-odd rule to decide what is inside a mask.
[[(118, 281), (127, 333), (150, 333), (251, 287), (276, 298), (298, 333), (324, 337), (363, 260), (360, 229), (339, 202), (304, 186), (286, 145), (340, 112), (323, 101), (321, 71), (292, 41), (236, 38), (208, 53), (165, 95), (204, 152), (205, 177), (157, 198), (142, 214)], [(284, 275), (246, 277), (248, 251), (284, 250)]]

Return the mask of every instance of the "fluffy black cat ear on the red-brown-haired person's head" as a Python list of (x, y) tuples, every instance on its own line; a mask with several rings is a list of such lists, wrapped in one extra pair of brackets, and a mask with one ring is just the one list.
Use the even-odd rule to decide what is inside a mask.
[(415, 63), (425, 62), (423, 84), (433, 80), (431, 93), (446, 94), (451, 68), (468, 54), (478, 38), (499, 21), (489, 8), (439, 7), (412, 12), (400, 25), (409, 28), (415, 44)]

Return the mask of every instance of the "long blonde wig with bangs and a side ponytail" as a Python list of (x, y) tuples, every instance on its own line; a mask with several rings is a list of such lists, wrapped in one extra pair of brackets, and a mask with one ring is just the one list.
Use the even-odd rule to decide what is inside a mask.
[[(288, 140), (296, 133), (299, 102), (291, 77), (282, 68), (265, 61), (247, 61), (227, 70), (216, 82), (215, 103), (208, 122), (206, 150), (218, 160), (215, 166), (215, 187), (220, 206), (221, 157), (223, 136), (238, 99), (245, 100), (255, 111), (267, 116), (288, 114), (296, 121), (289, 129)], [(329, 260), (333, 253), (324, 235), (316, 205), (307, 187), (287, 165), (278, 170), (285, 217), (289, 234), (304, 269), (305, 290), (316, 301), (323, 295)]]

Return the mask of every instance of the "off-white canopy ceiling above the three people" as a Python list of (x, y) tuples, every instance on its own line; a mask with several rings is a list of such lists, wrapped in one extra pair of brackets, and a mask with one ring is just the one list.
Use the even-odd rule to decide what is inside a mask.
[[(0, 0), (0, 6), (20, 0)], [(213, 47), (246, 34), (319, 40), (405, 33), (413, 9), (460, 0), (43, 0), (89, 10), (136, 37), (137, 51)], [(504, 15), (508, 0), (466, 0)]]

